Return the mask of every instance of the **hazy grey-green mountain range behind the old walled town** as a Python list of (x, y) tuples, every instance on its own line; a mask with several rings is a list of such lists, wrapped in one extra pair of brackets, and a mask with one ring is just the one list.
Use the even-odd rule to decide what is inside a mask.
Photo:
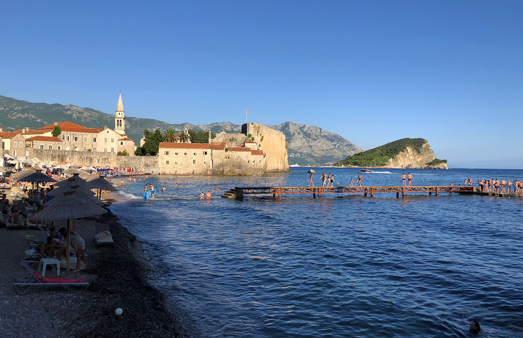
[[(107, 114), (92, 108), (80, 108), (72, 104), (33, 103), (0, 96), (0, 125), (4, 131), (15, 131), (25, 127), (38, 129), (53, 122), (69, 121), (86, 127), (101, 128), (107, 125), (115, 127), (115, 115)], [(349, 155), (362, 151), (344, 137), (328, 132), (319, 126), (285, 122), (279, 125), (267, 125), (285, 134), (289, 143), (289, 164), (325, 165), (336, 162)], [(220, 133), (240, 133), (241, 124), (231, 122), (194, 125), (190, 123), (168, 123), (154, 119), (126, 116), (126, 132), (139, 145), (144, 129), (166, 131), (173, 128), (182, 131), (184, 128), (194, 131), (212, 131)]]

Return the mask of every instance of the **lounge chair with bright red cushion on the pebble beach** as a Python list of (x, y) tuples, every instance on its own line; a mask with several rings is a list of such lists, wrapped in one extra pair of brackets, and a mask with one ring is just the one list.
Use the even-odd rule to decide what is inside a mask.
[[(35, 270), (33, 270), (27, 262), (21, 260), (20, 264), (26, 268), (26, 270), (29, 272), (27, 276), (24, 278), (15, 278), (15, 283), (13, 283), (13, 287), (15, 288), (15, 292), (17, 295), (25, 295), (29, 291), (31, 291), (32, 287), (49, 287), (49, 286), (61, 286), (66, 288), (67, 290), (83, 294), (85, 290), (89, 287), (89, 283), (87, 283), (86, 279), (71, 279), (71, 278), (60, 278), (60, 277), (48, 277), (44, 278), (38, 274)], [(77, 292), (76, 290), (72, 289), (72, 286), (80, 286), (83, 287), (82, 292)]]

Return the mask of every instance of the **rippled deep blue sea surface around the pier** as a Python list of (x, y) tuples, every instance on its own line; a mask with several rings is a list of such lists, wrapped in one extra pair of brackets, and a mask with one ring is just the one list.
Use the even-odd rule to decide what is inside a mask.
[[(150, 251), (153, 284), (203, 337), (523, 337), (523, 199), (442, 193), (221, 199), (248, 185), (307, 185), (308, 168), (264, 177), (158, 177), (122, 189), (122, 224)], [(315, 168), (348, 185), (354, 168)], [(401, 185), (401, 169), (362, 173)], [(413, 185), (523, 170), (411, 170)], [(242, 179), (242, 182), (238, 180)], [(118, 181), (119, 179), (113, 179)], [(265, 182), (264, 182), (265, 181)], [(179, 184), (179, 188), (178, 188)], [(208, 185), (207, 185), (208, 184)], [(476, 185), (476, 184), (475, 184)], [(477, 185), (476, 185), (477, 186)], [(220, 191), (217, 191), (217, 188)], [(211, 191), (212, 200), (199, 193)]]

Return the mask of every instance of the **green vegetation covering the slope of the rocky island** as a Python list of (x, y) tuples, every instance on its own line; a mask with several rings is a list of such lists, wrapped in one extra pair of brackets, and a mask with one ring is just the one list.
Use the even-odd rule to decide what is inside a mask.
[[(419, 153), (425, 143), (427, 143), (427, 140), (424, 138), (402, 138), (367, 151), (361, 151), (361, 153), (358, 154), (347, 156), (346, 159), (337, 162), (336, 165), (338, 167), (342, 165), (355, 167), (384, 167), (387, 165), (389, 159), (394, 158), (407, 147), (411, 147)], [(447, 162), (447, 160), (443, 161)]]

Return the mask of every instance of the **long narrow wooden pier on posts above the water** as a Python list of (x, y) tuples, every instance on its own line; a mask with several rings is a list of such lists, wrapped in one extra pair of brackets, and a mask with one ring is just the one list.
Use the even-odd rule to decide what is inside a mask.
[[(371, 197), (375, 193), (396, 193), (405, 196), (407, 193), (428, 193), (429, 195), (438, 195), (442, 192), (453, 192), (460, 194), (476, 194), (476, 188), (470, 185), (430, 185), (430, 186), (411, 186), (411, 187), (235, 187), (223, 193), (222, 197), (225, 199), (243, 198), (245, 194), (272, 194), (273, 197), (278, 197), (282, 194), (312, 194), (313, 197), (321, 198), (323, 194), (363, 194)], [(483, 194), (483, 193), (482, 193)]]

